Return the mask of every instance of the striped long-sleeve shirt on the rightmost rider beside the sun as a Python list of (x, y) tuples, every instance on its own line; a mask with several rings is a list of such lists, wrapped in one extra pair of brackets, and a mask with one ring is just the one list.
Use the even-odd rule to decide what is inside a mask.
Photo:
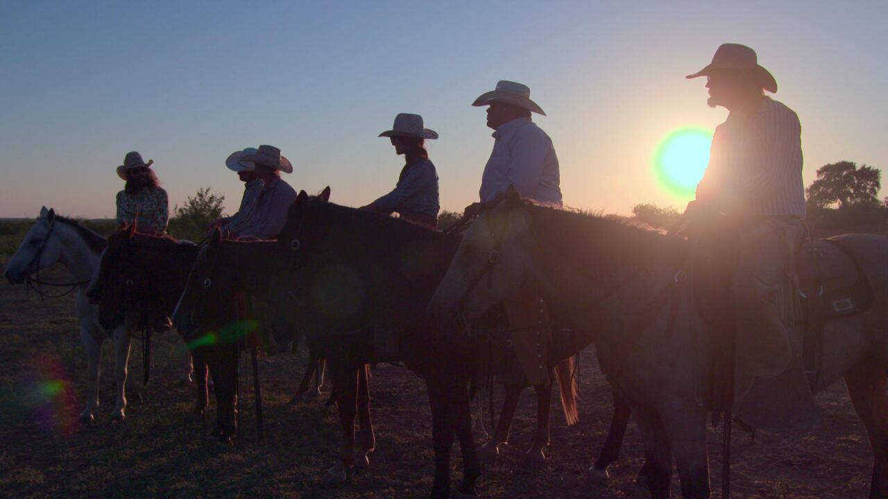
[(801, 134), (796, 113), (773, 99), (751, 118), (732, 112), (712, 137), (697, 199), (743, 215), (805, 218)]

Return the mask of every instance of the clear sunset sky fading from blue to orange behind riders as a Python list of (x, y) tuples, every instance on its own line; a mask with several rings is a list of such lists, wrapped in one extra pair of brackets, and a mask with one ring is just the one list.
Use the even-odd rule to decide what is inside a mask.
[[(747, 44), (802, 123), (805, 185), (837, 161), (888, 162), (888, 2), (0, 2), (0, 217), (42, 205), (113, 218), (128, 151), (153, 159), (170, 209), (200, 186), (236, 210), (243, 147), (280, 147), (290, 185), (361, 206), (392, 189), (400, 112), (424, 116), (442, 209), (478, 200), (494, 139), (472, 101), (501, 79), (546, 111), (565, 202), (679, 210), (653, 158), (713, 130), (705, 79)], [(886, 179), (888, 181), (888, 179)], [(884, 195), (884, 194), (883, 194)]]

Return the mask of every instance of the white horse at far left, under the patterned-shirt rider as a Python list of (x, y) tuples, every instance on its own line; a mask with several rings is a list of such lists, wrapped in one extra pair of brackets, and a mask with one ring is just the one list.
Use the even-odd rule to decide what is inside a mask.
[(40, 217), (31, 227), (19, 249), (6, 265), (4, 276), (12, 284), (21, 284), (25, 279), (50, 265), (61, 263), (71, 273), (77, 285), (75, 312), (80, 321), (80, 340), (86, 350), (87, 393), (86, 408), (80, 413), (80, 421), (89, 423), (99, 409), (99, 369), (101, 367), (102, 343), (107, 337), (114, 338), (115, 381), (117, 382), (117, 402), (111, 413), (111, 421), (123, 421), (126, 408), (126, 375), (130, 359), (130, 331), (126, 326), (107, 331), (99, 325), (98, 311), (90, 305), (86, 289), (93, 273), (99, 268), (105, 238), (81, 226), (75, 220), (56, 215), (55, 210), (40, 210)]

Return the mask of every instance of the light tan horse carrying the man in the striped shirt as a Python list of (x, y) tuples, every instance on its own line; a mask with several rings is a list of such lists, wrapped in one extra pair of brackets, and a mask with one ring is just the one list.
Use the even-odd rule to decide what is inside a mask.
[[(875, 302), (827, 323), (815, 388), (844, 376), (874, 452), (870, 497), (888, 497), (888, 238), (834, 239), (857, 259)], [(652, 496), (669, 497), (674, 456), (682, 495), (709, 497), (707, 408), (699, 397), (710, 372), (709, 331), (686, 282), (686, 255), (678, 238), (506, 194), (464, 234), (429, 310), (453, 324), (522, 286), (551, 300), (577, 327), (595, 332), (599, 362), (636, 415)]]

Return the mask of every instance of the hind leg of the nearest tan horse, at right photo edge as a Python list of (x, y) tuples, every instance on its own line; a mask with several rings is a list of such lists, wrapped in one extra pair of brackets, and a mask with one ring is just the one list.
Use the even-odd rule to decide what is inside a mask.
[(888, 407), (885, 405), (885, 369), (876, 360), (861, 361), (845, 373), (844, 382), (854, 411), (867, 427), (873, 449), (873, 476), (869, 497), (888, 497)]

